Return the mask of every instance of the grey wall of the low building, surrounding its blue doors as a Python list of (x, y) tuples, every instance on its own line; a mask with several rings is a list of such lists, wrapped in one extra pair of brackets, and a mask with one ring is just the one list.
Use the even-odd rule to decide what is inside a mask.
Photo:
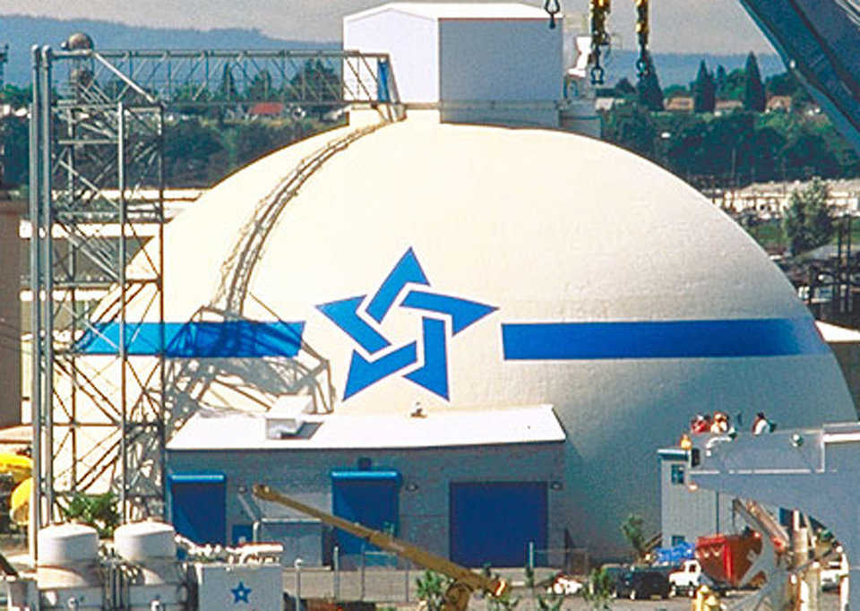
[[(216, 471), (227, 476), (227, 531), (260, 518), (302, 518), (277, 503), (259, 502), (255, 483), (331, 512), (331, 469), (355, 469), (357, 459), (372, 460), (375, 469), (397, 469), (400, 487), (398, 536), (449, 555), (449, 485), (472, 481), (543, 481), (547, 483), (548, 537), (551, 547), (563, 546), (565, 521), (563, 444), (529, 443), (421, 450), (168, 452), (170, 472)], [(240, 492), (242, 490), (243, 492)]]

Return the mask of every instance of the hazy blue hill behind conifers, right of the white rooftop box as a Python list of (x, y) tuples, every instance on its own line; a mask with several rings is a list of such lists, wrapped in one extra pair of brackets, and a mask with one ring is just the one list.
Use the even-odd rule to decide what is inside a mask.
[[(615, 85), (624, 77), (635, 85), (637, 57), (639, 57), (639, 53), (635, 51), (612, 51), (605, 62), (606, 85)], [(701, 60), (705, 60), (705, 65), (711, 72), (716, 72), (717, 66), (722, 65), (726, 68), (726, 72), (730, 73), (735, 68), (743, 68), (746, 63), (745, 53), (731, 56), (655, 53), (653, 57), (654, 65), (657, 66), (660, 87), (664, 89), (669, 85), (687, 86), (695, 81)], [(759, 55), (756, 56), (756, 60), (759, 62), (761, 78), (786, 72), (786, 65), (782, 63), (782, 59), (778, 55)]]

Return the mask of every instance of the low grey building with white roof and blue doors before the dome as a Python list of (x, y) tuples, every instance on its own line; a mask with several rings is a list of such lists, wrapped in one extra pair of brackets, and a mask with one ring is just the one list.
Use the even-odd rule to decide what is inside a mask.
[(521, 566), (529, 543), (543, 550), (563, 537), (564, 433), (549, 406), (306, 415), (289, 431), (271, 415), (196, 414), (168, 444), (177, 531), (277, 540), (288, 564), (329, 564), (334, 546), (341, 563), (361, 553), (360, 539), (254, 497), (262, 483), (469, 566)]

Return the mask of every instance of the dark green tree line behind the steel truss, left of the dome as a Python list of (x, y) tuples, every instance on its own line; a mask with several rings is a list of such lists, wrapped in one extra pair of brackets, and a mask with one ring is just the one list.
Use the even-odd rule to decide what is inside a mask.
[[(278, 86), (261, 71), (240, 86), (225, 67), (217, 88), (186, 85), (174, 92), (164, 124), (164, 171), (168, 185), (211, 186), (237, 168), (291, 142), (329, 128), (323, 121), (340, 90), (340, 76), (318, 59)], [(107, 82), (103, 88), (120, 87)], [(259, 99), (302, 99), (284, 116), (262, 118), (249, 113)], [(311, 100), (311, 101), (308, 101)], [(202, 102), (218, 102), (205, 105)], [(314, 103), (316, 102), (316, 103)], [(0, 104), (27, 108), (30, 87), (5, 85)], [(0, 120), (4, 185), (26, 185), (29, 176), (29, 128), (26, 116)]]

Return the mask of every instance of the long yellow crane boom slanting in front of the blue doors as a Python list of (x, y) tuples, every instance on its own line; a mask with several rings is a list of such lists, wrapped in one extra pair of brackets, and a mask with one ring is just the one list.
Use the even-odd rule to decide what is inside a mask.
[(363, 538), (374, 546), (393, 552), (402, 558), (407, 558), (423, 568), (441, 572), (443, 575), (452, 578), (453, 583), (445, 592), (443, 611), (465, 611), (466, 607), (469, 606), (469, 598), (475, 590), (483, 591), (495, 598), (502, 597), (508, 591), (508, 582), (503, 579), (486, 577), (469, 570), (465, 566), (452, 563), (447, 558), (432, 554), (426, 551), (426, 549), (393, 537), (388, 533), (368, 529), (358, 522), (350, 522), (310, 505), (305, 505), (305, 503), (299, 503), (287, 495), (282, 495), (277, 490), (273, 490), (270, 486), (256, 484), (254, 486), (254, 496), (263, 501), (280, 503), (297, 512), (313, 516), (319, 521), (348, 532), (350, 535)]

